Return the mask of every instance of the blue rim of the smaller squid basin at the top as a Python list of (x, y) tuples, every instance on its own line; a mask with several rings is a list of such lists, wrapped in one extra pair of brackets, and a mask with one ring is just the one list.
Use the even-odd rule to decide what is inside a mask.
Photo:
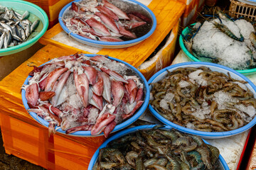
[[(151, 36), (153, 33), (154, 33), (154, 30), (156, 30), (156, 16), (154, 15), (154, 13), (151, 11), (151, 9), (149, 9), (147, 6), (145, 6), (144, 4), (138, 2), (138, 1), (135, 1), (135, 0), (122, 0), (122, 1), (132, 1), (133, 3), (135, 4), (139, 4), (140, 6), (142, 6), (147, 12), (149, 12), (151, 18), (152, 18), (152, 27), (151, 29), (149, 30), (148, 33), (146, 33), (145, 35), (143, 35), (142, 37), (140, 38), (135, 38), (134, 40), (127, 40), (127, 41), (122, 41), (122, 42), (104, 42), (104, 41), (100, 41), (100, 40), (91, 40), (89, 38), (84, 38), (80, 35), (77, 35), (75, 33), (72, 33), (66, 26), (65, 24), (63, 23), (62, 21), (62, 17), (63, 17), (63, 13), (65, 12), (65, 10), (67, 8), (69, 8), (71, 6), (71, 4), (73, 2), (78, 2), (78, 1), (81, 1), (81, 0), (75, 0), (75, 1), (71, 1), (69, 4), (67, 4), (66, 6), (64, 6), (60, 13), (59, 13), (59, 16), (58, 16), (58, 21), (60, 23), (60, 26), (61, 28), (63, 28), (63, 30), (65, 30), (66, 33), (70, 34), (71, 36), (77, 38), (78, 40), (82, 40), (83, 42), (89, 42), (90, 44), (94, 44), (94, 45), (102, 45), (102, 46), (112, 46), (112, 47), (115, 47), (115, 46), (121, 46), (121, 45), (132, 45), (132, 44), (137, 44), (143, 40), (146, 40), (146, 38), (149, 38), (149, 36)], [(82, 42), (82, 43), (83, 43)]]

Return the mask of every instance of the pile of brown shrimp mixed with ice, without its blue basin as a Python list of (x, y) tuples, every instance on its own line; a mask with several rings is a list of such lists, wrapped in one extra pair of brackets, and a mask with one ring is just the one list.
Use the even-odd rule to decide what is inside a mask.
[(256, 99), (246, 83), (208, 67), (181, 67), (151, 83), (150, 103), (161, 116), (186, 128), (235, 130), (256, 113)]

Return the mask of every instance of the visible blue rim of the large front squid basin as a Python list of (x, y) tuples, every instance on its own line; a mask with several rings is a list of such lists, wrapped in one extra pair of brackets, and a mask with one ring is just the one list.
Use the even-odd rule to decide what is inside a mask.
[[(84, 54), (87, 57), (93, 57), (95, 55), (92, 54)], [(136, 72), (137, 74), (139, 74), (139, 77), (142, 79), (143, 83), (144, 83), (144, 88), (146, 90), (146, 94), (144, 94), (144, 103), (142, 104), (142, 106), (139, 108), (139, 110), (137, 110), (134, 115), (132, 115), (132, 117), (128, 118), (127, 120), (124, 120), (123, 123), (120, 123), (118, 125), (116, 125), (114, 127), (114, 130), (112, 130), (112, 132), (116, 132), (118, 130), (122, 130), (123, 128), (127, 127), (128, 125), (132, 124), (135, 120), (137, 120), (139, 118), (139, 116), (142, 115), (142, 113), (144, 113), (144, 111), (146, 110), (148, 104), (149, 104), (149, 85), (147, 84), (147, 81), (145, 79), (145, 77), (142, 75), (141, 72), (139, 72), (135, 67), (133, 67), (131, 64), (128, 64), (127, 62), (124, 62), (122, 60), (119, 60), (117, 58), (114, 57), (108, 57), (110, 60), (115, 60), (117, 62), (121, 62), (123, 64), (125, 64), (127, 67), (131, 68), (134, 72)], [(49, 61), (50, 62), (50, 61)], [(46, 62), (47, 63), (47, 62)], [(46, 64), (44, 63), (44, 64)], [(43, 64), (42, 64), (43, 65)], [(28, 84), (28, 79), (30, 78), (30, 76), (28, 76), (24, 82), (24, 84)], [(25, 97), (25, 90), (22, 89), (21, 91), (21, 97), (22, 97), (22, 102), (23, 102), (23, 106), (26, 108), (26, 110), (28, 110), (28, 103)], [(38, 123), (40, 123), (41, 125), (44, 125), (48, 128), (49, 123), (46, 120), (43, 120), (43, 118), (39, 117), (36, 113), (33, 112), (29, 112), (29, 114), (32, 116), (33, 119), (35, 119)], [(62, 134), (65, 134), (64, 130), (61, 130), (60, 128), (58, 130), (56, 130), (57, 132), (60, 132)], [(66, 135), (66, 134), (65, 134)], [(95, 136), (100, 136), (100, 135), (104, 135), (103, 132), (100, 133), (100, 135), (91, 135), (90, 134), (90, 130), (84, 131), (84, 130), (80, 130), (78, 132), (73, 132), (68, 134), (70, 136), (77, 136), (77, 137), (95, 137)]]

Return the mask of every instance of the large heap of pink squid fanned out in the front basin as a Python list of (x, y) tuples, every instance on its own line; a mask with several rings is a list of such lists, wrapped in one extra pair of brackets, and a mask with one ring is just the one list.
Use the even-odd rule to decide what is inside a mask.
[(22, 87), (28, 112), (46, 120), (49, 133), (58, 126), (66, 134), (90, 130), (91, 135), (104, 132), (107, 137), (144, 102), (139, 75), (107, 56), (58, 57), (29, 75)]

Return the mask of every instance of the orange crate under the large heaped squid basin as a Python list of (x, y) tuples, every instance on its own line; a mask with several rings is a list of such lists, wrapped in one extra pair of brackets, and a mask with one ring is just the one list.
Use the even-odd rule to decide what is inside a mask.
[(0, 124), (7, 154), (25, 159), (46, 169), (87, 169), (90, 158), (105, 137), (72, 137), (55, 134), (28, 115), (21, 100), (21, 86), (33, 67), (77, 50), (46, 45), (33, 57), (0, 81)]

